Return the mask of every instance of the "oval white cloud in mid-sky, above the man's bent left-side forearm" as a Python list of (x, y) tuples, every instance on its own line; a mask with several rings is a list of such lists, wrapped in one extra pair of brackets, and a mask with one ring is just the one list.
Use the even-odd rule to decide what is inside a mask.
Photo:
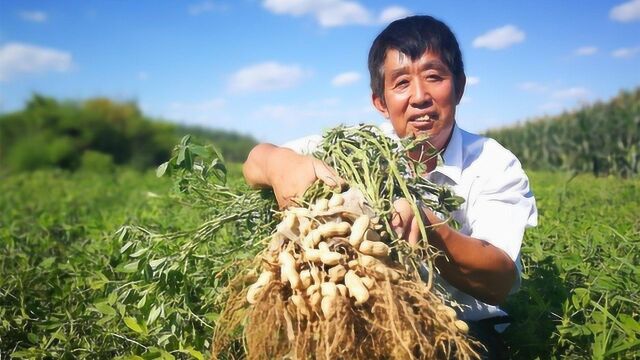
[(228, 88), (236, 93), (288, 89), (298, 85), (305, 75), (298, 65), (265, 62), (238, 70), (231, 75)]

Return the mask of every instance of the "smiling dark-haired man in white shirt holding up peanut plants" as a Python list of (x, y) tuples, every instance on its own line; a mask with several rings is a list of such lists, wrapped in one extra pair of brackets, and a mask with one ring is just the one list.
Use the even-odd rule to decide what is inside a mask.
[[(371, 46), (369, 73), (373, 105), (395, 134), (427, 137), (441, 152), (443, 164), (437, 165), (434, 157), (425, 160), (426, 175), (465, 198), (453, 214), (459, 230), (429, 209), (422, 212), (427, 223), (436, 225), (429, 243), (446, 255), (436, 261), (439, 282), (462, 305), (460, 317), (490, 348), (489, 355), (499, 357), (494, 325), (506, 313), (497, 305), (519, 286), (524, 229), (537, 222), (528, 179), (511, 152), (457, 126), (456, 106), (466, 77), (458, 42), (444, 23), (429, 16), (391, 23)], [(416, 159), (421, 155), (411, 154)], [(320, 160), (270, 144), (251, 151), (244, 175), (252, 186), (272, 187), (281, 206), (316, 179), (339, 181)], [(395, 230), (417, 242), (420, 231), (408, 202), (400, 199), (394, 206)]]

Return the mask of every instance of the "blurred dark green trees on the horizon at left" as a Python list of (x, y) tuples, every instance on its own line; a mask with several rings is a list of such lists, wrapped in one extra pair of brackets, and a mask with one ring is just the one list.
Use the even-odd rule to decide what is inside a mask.
[(134, 102), (34, 95), (23, 110), (0, 115), (0, 172), (151, 168), (166, 161), (185, 134), (213, 143), (231, 162), (243, 161), (256, 144), (237, 133), (151, 119)]

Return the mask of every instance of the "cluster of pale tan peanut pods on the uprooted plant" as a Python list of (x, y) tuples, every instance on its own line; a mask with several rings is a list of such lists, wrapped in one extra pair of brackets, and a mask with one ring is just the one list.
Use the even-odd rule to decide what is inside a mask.
[(338, 296), (355, 306), (366, 303), (376, 280), (400, 278), (386, 265), (390, 248), (382, 228), (357, 191), (319, 199), (310, 208), (288, 208), (247, 301), (258, 301), (279, 272), (280, 281), (292, 290), (289, 301), (303, 316), (316, 312), (331, 318)]

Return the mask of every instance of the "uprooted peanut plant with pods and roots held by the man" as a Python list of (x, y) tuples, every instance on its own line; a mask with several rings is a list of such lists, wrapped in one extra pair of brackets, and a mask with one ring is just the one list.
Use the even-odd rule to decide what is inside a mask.
[(420, 222), (415, 247), (390, 227), (399, 197), (416, 212), (429, 206), (443, 216), (460, 202), (415, 176), (423, 169), (408, 151), (418, 146), (370, 126), (324, 136), (315, 156), (348, 190), (317, 183), (277, 214), (263, 250), (227, 287), (214, 357), (232, 358), (238, 349), (252, 359), (477, 357), (466, 323), (431, 286), (436, 253), (428, 227)]

